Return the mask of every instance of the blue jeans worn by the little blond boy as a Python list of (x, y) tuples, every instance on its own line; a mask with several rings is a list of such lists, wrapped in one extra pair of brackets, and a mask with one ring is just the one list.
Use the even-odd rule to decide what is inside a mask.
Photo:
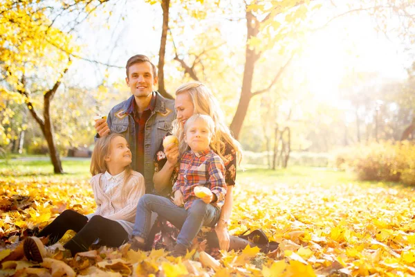
[(192, 206), (185, 210), (176, 206), (171, 199), (158, 195), (143, 195), (137, 205), (136, 223), (133, 235), (147, 240), (151, 226), (151, 212), (168, 220), (176, 228), (181, 229), (177, 243), (189, 248), (202, 226), (214, 226), (221, 215), (221, 209), (196, 199)]

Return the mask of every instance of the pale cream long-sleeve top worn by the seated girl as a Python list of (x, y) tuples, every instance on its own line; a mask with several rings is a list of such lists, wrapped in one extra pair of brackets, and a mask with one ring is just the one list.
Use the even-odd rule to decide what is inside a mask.
[(136, 220), (138, 200), (145, 194), (144, 177), (139, 172), (131, 172), (131, 178), (125, 183), (125, 171), (118, 175), (109, 172), (91, 178), (91, 186), (97, 209), (95, 213), (118, 222), (129, 235)]

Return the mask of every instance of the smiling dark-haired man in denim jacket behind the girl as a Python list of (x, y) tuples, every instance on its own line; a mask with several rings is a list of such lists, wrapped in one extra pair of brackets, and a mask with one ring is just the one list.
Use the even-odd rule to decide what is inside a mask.
[(95, 122), (95, 139), (110, 132), (127, 139), (133, 153), (133, 170), (145, 178), (146, 193), (154, 193), (154, 155), (176, 117), (174, 100), (163, 98), (154, 87), (158, 77), (156, 66), (145, 55), (130, 57), (127, 66), (127, 86), (133, 94), (111, 109), (107, 121)]

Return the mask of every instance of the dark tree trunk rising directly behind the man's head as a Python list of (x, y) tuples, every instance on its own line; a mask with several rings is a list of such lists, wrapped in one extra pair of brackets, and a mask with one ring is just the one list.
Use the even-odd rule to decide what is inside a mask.
[(158, 51), (158, 92), (165, 98), (174, 99), (165, 89), (164, 64), (167, 43), (167, 31), (169, 30), (169, 6), (170, 0), (161, 1), (163, 9), (163, 28), (161, 31), (160, 50)]

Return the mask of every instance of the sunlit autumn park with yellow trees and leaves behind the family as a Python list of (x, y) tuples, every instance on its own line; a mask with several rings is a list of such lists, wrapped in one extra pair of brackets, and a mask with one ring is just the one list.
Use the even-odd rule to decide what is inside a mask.
[[(223, 274), (415, 274), (412, 1), (1, 4), (4, 247), (64, 208), (92, 211), (89, 159), (67, 156), (91, 152), (93, 116), (131, 95), (124, 66), (140, 53), (163, 96), (210, 87), (245, 150), (230, 233), (282, 243), (225, 254)], [(146, 259), (175, 272), (164, 254), (119, 255), (132, 273)]]

